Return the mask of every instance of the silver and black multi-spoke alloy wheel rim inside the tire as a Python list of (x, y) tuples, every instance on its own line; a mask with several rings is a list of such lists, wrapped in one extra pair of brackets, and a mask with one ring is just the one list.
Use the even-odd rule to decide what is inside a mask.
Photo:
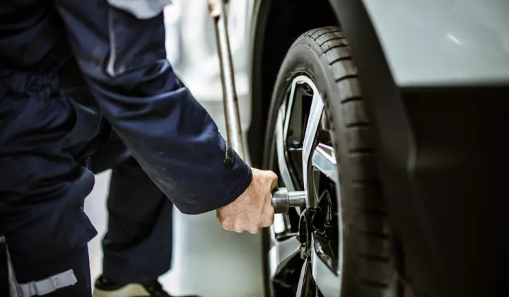
[(276, 214), (270, 228), (269, 272), (275, 296), (289, 291), (306, 297), (340, 296), (340, 180), (330, 136), (324, 136), (327, 130), (315, 83), (308, 76), (296, 76), (279, 107), (270, 159), (284, 187), (306, 192), (306, 207)]

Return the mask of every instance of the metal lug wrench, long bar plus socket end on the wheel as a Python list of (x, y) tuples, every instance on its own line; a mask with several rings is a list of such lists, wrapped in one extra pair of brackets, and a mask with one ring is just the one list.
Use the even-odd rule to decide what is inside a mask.
[[(235, 89), (235, 76), (233, 74), (233, 62), (230, 52), (230, 40), (228, 37), (228, 22), (224, 9), (225, 3), (224, 0), (220, 2), (221, 13), (218, 17), (214, 18), (214, 28), (216, 29), (216, 43), (221, 68), (221, 83), (223, 85), (226, 134), (232, 148), (242, 159), (245, 159), (237, 91)], [(272, 205), (276, 214), (287, 213), (290, 207), (305, 206), (305, 192), (288, 192), (286, 188), (276, 189), (272, 192)]]

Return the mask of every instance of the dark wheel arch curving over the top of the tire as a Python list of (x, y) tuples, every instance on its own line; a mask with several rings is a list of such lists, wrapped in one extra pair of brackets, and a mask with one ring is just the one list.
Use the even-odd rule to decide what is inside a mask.
[[(353, 59), (359, 68), (363, 86), (371, 88), (369, 80), (373, 79), (373, 75), (365, 76), (363, 73), (369, 72), (375, 61), (379, 69), (376, 76), (384, 77), (376, 81), (376, 84), (396, 90), (382, 47), (362, 1), (317, 0), (311, 6), (305, 0), (257, 0), (254, 1), (252, 16), (250, 90), (252, 119), (259, 119), (259, 124), (253, 122), (250, 127), (247, 135), (249, 146), (254, 148), (263, 143), (263, 123), (267, 120), (279, 66), (293, 41), (308, 30), (330, 25), (342, 28), (351, 43)], [(262, 164), (262, 153), (258, 151), (250, 150), (252, 163), (257, 166)]]

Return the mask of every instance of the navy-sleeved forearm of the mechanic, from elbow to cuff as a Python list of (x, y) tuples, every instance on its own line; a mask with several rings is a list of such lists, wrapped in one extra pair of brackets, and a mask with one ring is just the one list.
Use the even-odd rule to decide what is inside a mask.
[[(160, 90), (158, 80), (169, 75), (162, 73), (143, 88)], [(92, 86), (124, 144), (180, 211), (199, 214), (217, 209), (233, 202), (250, 184), (250, 168), (228, 148), (187, 88), (133, 98), (112, 93), (100, 83)]]

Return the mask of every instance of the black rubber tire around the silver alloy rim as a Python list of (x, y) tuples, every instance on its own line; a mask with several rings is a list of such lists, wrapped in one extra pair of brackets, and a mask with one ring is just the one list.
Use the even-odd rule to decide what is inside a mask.
[(343, 228), (344, 247), (341, 296), (397, 296), (392, 237), (370, 123), (351, 50), (340, 28), (310, 30), (288, 50), (271, 99), (264, 168), (270, 165), (279, 106), (293, 78), (302, 74), (315, 82), (322, 95), (339, 164), (341, 193), (337, 194), (341, 197), (339, 226)]

